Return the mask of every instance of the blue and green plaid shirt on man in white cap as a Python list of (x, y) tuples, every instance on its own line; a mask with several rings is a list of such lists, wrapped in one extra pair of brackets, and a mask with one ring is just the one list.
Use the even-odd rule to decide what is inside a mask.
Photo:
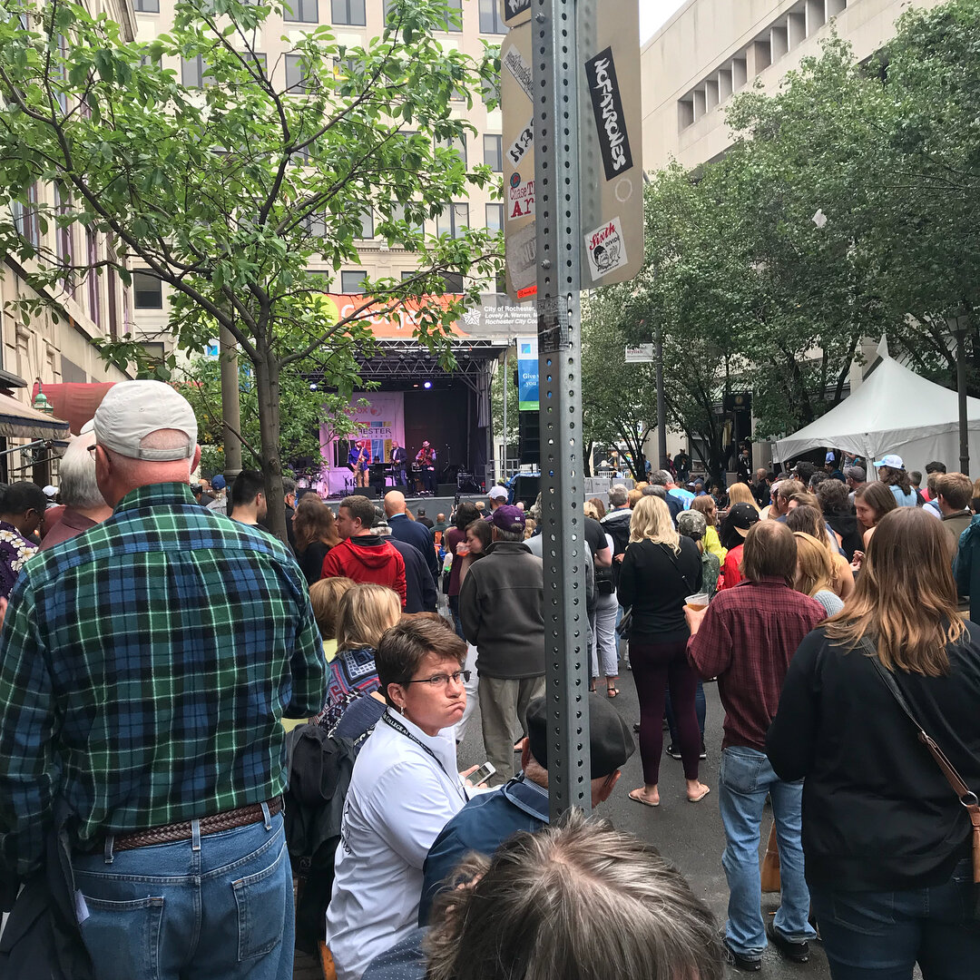
[(42, 857), (52, 797), (79, 844), (269, 800), (283, 714), (323, 705), (306, 580), (270, 535), (178, 483), (30, 559), (0, 633), (0, 854)]

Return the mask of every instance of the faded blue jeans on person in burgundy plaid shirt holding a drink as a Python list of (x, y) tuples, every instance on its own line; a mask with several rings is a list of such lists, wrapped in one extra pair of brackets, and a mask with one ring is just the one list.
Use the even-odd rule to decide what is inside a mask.
[(766, 946), (759, 868), (760, 823), (766, 794), (772, 799), (782, 884), (782, 904), (773, 927), (792, 942), (816, 935), (808, 922), (809, 890), (803, 875), (800, 842), (803, 780), (784, 783), (772, 771), (764, 753), (746, 746), (730, 746), (721, 753), (718, 776), (718, 808), (728, 842), (721, 858), (729, 893), (725, 938), (742, 956), (761, 956)]

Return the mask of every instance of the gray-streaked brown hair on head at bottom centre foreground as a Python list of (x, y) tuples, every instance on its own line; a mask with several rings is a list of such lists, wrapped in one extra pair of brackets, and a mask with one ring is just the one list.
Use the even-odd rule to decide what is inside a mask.
[(458, 907), (425, 940), (428, 980), (725, 975), (717, 924), (684, 876), (649, 844), (581, 810), (515, 834), (456, 893)]

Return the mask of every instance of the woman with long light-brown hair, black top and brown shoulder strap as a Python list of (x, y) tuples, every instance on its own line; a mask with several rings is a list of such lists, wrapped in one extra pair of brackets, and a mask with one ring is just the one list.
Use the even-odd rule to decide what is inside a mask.
[(855, 594), (790, 663), (766, 752), (806, 777), (803, 847), (834, 980), (980, 975), (971, 826), (878, 674), (980, 790), (980, 627), (956, 613), (953, 539), (899, 508), (875, 526)]

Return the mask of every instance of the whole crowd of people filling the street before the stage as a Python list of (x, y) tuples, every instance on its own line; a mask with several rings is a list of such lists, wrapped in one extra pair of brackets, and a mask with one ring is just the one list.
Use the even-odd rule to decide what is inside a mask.
[[(0, 975), (284, 980), (311, 921), (340, 980), (720, 980), (770, 943), (807, 961), (817, 935), (834, 980), (975, 975), (965, 475), (930, 464), (920, 490), (889, 454), (869, 482), (831, 452), (711, 493), (684, 457), (583, 502), (592, 804), (659, 808), (680, 760), (682, 800), (716, 799), (724, 829), (718, 926), (668, 842), (550, 825), (540, 498), (495, 486), (431, 521), (396, 488), (334, 513), (292, 481), (273, 504), (254, 471), (192, 485), (199, 458), (186, 401), (123, 382), (59, 501), (0, 497)], [(477, 705), (487, 763), (460, 771)], [(47, 931), (38, 907), (60, 909)]]

